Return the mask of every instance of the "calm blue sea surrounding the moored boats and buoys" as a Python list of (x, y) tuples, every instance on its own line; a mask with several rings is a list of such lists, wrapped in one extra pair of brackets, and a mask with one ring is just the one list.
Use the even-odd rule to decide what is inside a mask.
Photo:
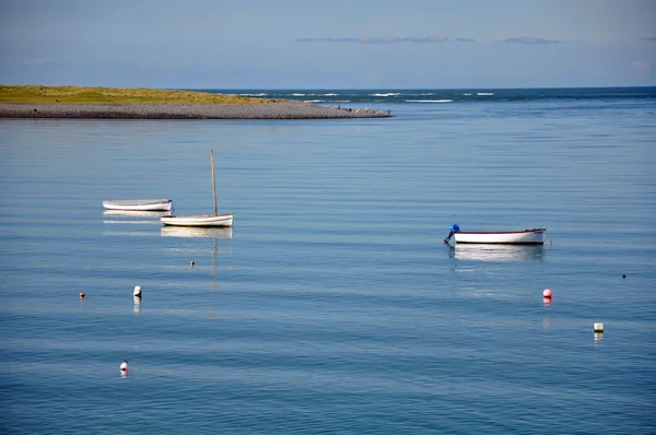
[(209, 91), (394, 117), (0, 120), (1, 433), (656, 433), (656, 89)]

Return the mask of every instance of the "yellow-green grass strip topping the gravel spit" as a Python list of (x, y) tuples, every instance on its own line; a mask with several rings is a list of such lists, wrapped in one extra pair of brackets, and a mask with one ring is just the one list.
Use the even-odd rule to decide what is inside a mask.
[(148, 87), (79, 87), (0, 85), (0, 103), (188, 103), (188, 104), (247, 104), (280, 103), (282, 99), (250, 98), (207, 92), (165, 91)]

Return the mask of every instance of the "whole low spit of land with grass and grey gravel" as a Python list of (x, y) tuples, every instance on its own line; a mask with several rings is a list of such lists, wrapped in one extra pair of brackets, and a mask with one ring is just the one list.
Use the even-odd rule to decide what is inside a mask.
[(333, 119), (389, 110), (335, 108), (282, 98), (148, 87), (0, 85), (0, 118)]

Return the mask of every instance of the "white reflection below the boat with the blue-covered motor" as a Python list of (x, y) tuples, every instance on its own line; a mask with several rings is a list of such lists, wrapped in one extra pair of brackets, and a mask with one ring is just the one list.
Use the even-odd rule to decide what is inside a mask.
[(469, 261), (541, 261), (544, 258), (542, 245), (487, 245), (456, 244), (449, 249), (456, 260)]

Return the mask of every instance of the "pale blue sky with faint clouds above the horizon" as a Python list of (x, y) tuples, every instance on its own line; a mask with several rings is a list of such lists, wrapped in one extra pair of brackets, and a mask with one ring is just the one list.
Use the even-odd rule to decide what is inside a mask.
[(656, 0), (0, 0), (0, 84), (656, 85)]

